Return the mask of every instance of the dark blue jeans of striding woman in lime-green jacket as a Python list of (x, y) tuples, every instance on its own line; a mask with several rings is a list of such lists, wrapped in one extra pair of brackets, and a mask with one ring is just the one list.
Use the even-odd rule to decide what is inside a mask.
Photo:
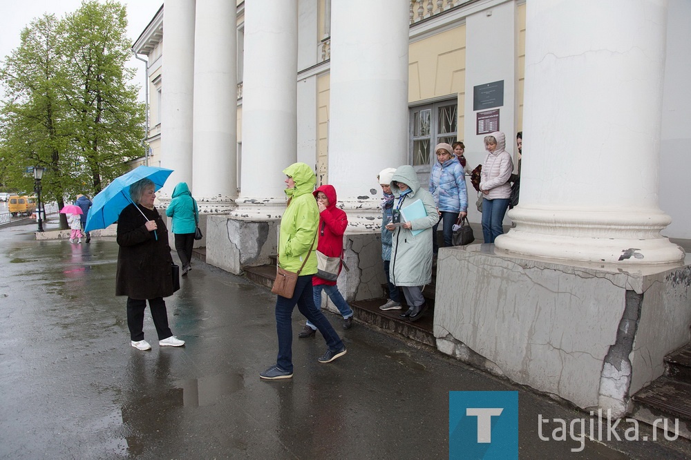
[(326, 319), (320, 309), (314, 305), (312, 294), (312, 275), (298, 276), (295, 291), (292, 298), (276, 296), (276, 333), (278, 334), (278, 357), (276, 365), (282, 370), (293, 370), (293, 308), (297, 304), (300, 313), (312, 321), (319, 329), (330, 350), (336, 351), (343, 348), (343, 341)]

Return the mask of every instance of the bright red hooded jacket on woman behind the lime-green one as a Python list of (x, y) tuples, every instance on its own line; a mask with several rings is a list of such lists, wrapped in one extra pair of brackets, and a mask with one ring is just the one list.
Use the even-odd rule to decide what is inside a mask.
[[(317, 192), (329, 199), (329, 205), (319, 214), (319, 243), (316, 249), (328, 257), (340, 257), (343, 253), (343, 233), (348, 227), (348, 216), (336, 207), (337, 197), (334, 186), (326, 184), (312, 192), (316, 199)], [(312, 285), (336, 285), (336, 281), (327, 281), (319, 276), (312, 277)]]

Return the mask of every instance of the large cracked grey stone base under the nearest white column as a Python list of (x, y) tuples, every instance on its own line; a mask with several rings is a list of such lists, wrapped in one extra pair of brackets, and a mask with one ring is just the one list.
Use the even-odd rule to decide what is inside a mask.
[(440, 351), (621, 416), (630, 396), (689, 341), (691, 257), (676, 265), (565, 265), (494, 245), (442, 248), (434, 335)]

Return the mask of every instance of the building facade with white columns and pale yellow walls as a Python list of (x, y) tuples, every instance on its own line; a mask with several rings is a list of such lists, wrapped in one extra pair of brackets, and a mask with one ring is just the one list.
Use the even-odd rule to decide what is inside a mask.
[[(531, 261), (518, 264), (522, 274), (540, 264), (585, 267), (586, 278), (618, 287), (603, 294), (617, 307), (591, 308), (598, 298), (574, 303), (571, 314), (589, 312), (601, 334), (576, 327), (570, 352), (538, 350), (535, 336), (550, 343), (565, 333), (546, 324), (568, 323), (558, 308), (549, 321), (540, 316), (537, 303), (561, 301), (547, 289), (521, 310), (532, 320), (512, 329), (522, 342), (502, 348), (464, 329), (463, 315), (477, 319), (482, 307), (506, 316), (522, 300), (458, 305), (448, 280), (437, 285), (439, 349), (466, 361), (482, 356), (493, 372), (581, 407), (625, 412), (630, 394), (661, 373), (661, 356), (688, 341), (691, 318), (680, 300), (688, 286), (675, 286), (656, 294), (676, 296), (673, 313), (649, 318), (650, 337), (636, 336), (647, 357), (633, 349), (613, 357), (606, 345), (618, 340), (632, 305), (627, 292), (644, 296), (651, 276), (683, 267), (683, 250), (666, 237), (691, 238), (681, 189), (691, 166), (690, 19), (683, 0), (167, 0), (134, 46), (149, 58), (149, 162), (175, 170), (163, 195), (189, 184), (207, 215), (207, 262), (234, 273), (275, 253), (281, 171), (296, 161), (314, 165), (349, 215), (346, 247), (358, 269), (339, 284), (354, 300), (376, 297), (381, 286), (377, 173), (412, 164), (426, 184), (437, 142), (462, 140), (475, 166), (486, 133), (515, 139), (523, 131), (521, 202), (504, 222), (515, 228), (482, 263)], [(515, 144), (507, 150), (515, 153)], [(439, 269), (448, 273), (473, 270), (472, 260), (485, 257), (444, 254)], [(612, 281), (622, 267), (633, 278)], [(501, 269), (490, 272), (498, 291), (515, 288), (519, 297), (531, 283), (545, 287), (529, 274), (507, 285)], [(477, 291), (484, 281), (473, 282), (464, 288)], [(574, 280), (573, 289), (588, 282)], [(653, 343), (656, 334), (668, 340)], [(562, 353), (594, 358), (567, 363)], [(607, 374), (607, 363), (621, 367), (618, 358), (632, 371)], [(569, 383), (555, 373), (582, 378)]]

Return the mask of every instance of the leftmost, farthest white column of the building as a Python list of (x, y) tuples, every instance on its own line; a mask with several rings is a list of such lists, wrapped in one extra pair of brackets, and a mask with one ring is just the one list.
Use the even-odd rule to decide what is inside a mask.
[(161, 166), (173, 169), (161, 195), (192, 184), (194, 0), (166, 0), (163, 16)]

